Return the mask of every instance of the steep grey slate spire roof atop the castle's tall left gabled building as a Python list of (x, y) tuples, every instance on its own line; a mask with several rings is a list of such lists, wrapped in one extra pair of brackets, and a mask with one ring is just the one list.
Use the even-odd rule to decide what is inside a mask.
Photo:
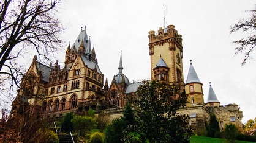
[(80, 34), (77, 37), (77, 40), (75, 40), (75, 42), (72, 45), (72, 47), (75, 46), (76, 51), (78, 51), (81, 41), (83, 41), (85, 48), (87, 48), (89, 40), (88, 40), (86, 30), (81, 30)]

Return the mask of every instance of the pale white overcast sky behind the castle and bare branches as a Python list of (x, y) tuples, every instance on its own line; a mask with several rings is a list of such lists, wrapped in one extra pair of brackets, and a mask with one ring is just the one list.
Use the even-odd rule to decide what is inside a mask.
[[(99, 67), (111, 83), (118, 74), (122, 50), (123, 73), (133, 80), (150, 78), (148, 32), (159, 27), (175, 25), (183, 36), (184, 82), (192, 60), (195, 71), (203, 83), (206, 102), (209, 82), (222, 105), (236, 103), (243, 111), (243, 123), (256, 117), (256, 54), (241, 66), (243, 54), (235, 55), (232, 41), (243, 33), (231, 34), (230, 26), (241, 18), (249, 17), (246, 10), (255, 9), (256, 1), (201, 0), (201, 1), (89, 1), (65, 0), (59, 16), (66, 43), (56, 54), (64, 66), (64, 54), (86, 27), (91, 44), (94, 45)], [(255, 34), (255, 33), (254, 33)], [(27, 63), (32, 62), (32, 55)], [(105, 82), (104, 78), (104, 82)]]

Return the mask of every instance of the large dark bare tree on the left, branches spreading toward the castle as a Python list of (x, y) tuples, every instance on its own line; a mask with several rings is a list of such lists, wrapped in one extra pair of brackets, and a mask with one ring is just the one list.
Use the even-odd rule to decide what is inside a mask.
[[(12, 78), (17, 85), (22, 74), (15, 59), (28, 51), (47, 58), (63, 43), (64, 30), (56, 18), (60, 0), (1, 0), (0, 3), (0, 77)], [(1, 81), (0, 81), (1, 82)]]

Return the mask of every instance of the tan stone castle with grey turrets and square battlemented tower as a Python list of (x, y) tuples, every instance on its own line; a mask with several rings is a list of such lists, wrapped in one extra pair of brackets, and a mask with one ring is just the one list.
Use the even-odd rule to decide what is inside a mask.
[[(221, 131), (225, 124), (230, 123), (242, 129), (243, 113), (238, 105), (220, 105), (211, 85), (207, 101), (204, 102), (203, 83), (192, 63), (184, 83), (182, 37), (175, 26), (160, 27), (157, 33), (149, 31), (148, 37), (151, 80), (179, 82), (183, 85), (188, 98), (186, 106), (180, 108), (178, 113), (190, 116), (189, 124), (195, 131), (206, 129), (212, 113), (216, 115)], [(92, 108), (96, 113), (105, 111), (109, 119), (120, 117), (127, 98), (136, 96), (135, 92), (141, 82), (130, 82), (123, 74), (122, 53), (118, 70), (110, 85), (107, 78), (104, 83), (96, 50), (91, 46), (86, 29), (81, 29), (73, 45), (67, 46), (64, 68), (61, 68), (58, 61), (44, 65), (34, 56), (22, 79), (23, 88), (18, 90), (12, 103), (12, 114), (29, 110), (32, 115), (58, 119), (70, 112), (83, 115)]]

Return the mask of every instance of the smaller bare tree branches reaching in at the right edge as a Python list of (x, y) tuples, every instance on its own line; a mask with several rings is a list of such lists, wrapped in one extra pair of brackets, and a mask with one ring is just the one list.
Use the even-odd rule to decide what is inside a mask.
[[(255, 5), (256, 6), (256, 5)], [(237, 32), (239, 30), (242, 30), (243, 32), (250, 32), (250, 35), (246, 38), (241, 38), (239, 40), (234, 41), (238, 46), (235, 48), (236, 53), (238, 54), (239, 52), (244, 52), (244, 60), (242, 62), (242, 65), (246, 63), (246, 61), (249, 59), (251, 56), (254, 47), (256, 46), (256, 9), (255, 10), (250, 10), (251, 13), (250, 18), (248, 19), (241, 19), (231, 27), (230, 33)]]

